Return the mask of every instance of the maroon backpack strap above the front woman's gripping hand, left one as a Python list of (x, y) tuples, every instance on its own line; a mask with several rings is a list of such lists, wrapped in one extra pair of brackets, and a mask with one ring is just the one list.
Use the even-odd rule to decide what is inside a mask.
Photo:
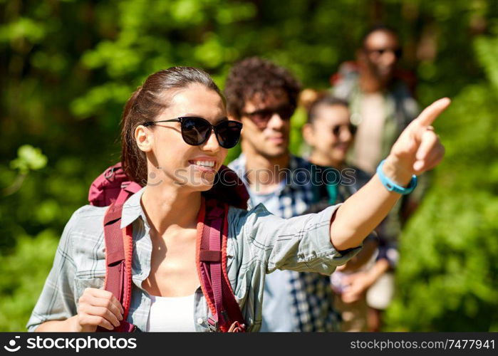
[[(104, 216), (105, 239), (105, 290), (109, 290), (119, 300), (125, 314), (120, 325), (114, 330), (97, 328), (97, 331), (130, 332), (136, 327), (126, 321), (131, 302), (131, 256), (133, 231), (131, 224), (121, 230), (122, 204), (111, 204)], [(125, 246), (125, 243), (127, 246)]]

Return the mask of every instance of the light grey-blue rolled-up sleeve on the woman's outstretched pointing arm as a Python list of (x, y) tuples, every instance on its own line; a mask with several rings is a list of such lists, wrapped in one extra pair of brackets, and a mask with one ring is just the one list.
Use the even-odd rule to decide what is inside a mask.
[(331, 219), (338, 206), (329, 206), (318, 214), (281, 219), (259, 204), (247, 211), (241, 230), (249, 239), (254, 258), (265, 263), (266, 273), (288, 269), (330, 274), (361, 248), (337, 251), (331, 244)]

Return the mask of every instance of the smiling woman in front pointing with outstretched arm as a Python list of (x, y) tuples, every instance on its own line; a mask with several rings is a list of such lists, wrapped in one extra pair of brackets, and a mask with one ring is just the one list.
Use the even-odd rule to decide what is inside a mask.
[[(430, 124), (448, 103), (440, 100), (422, 112), (379, 175), (342, 205), (289, 220), (261, 204), (249, 211), (229, 207), (224, 263), (247, 331), (261, 325), (266, 273), (277, 268), (332, 273), (359, 251), (403, 189), (413, 187), (414, 174), (440, 162), (443, 148)], [(227, 119), (217, 85), (197, 68), (150, 75), (125, 105), (121, 162), (130, 180), (142, 186), (123, 204), (120, 223), (121, 229), (133, 226), (126, 320), (138, 329), (212, 330), (196, 264), (197, 223), (205, 194), (241, 128)], [(87, 205), (68, 221), (28, 330), (113, 330), (122, 322), (122, 305), (103, 290), (105, 212)]]

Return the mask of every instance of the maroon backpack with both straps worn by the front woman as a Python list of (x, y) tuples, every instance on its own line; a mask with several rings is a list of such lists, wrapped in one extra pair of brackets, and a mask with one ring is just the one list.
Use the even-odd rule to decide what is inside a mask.
[[(142, 187), (132, 182), (121, 164), (100, 174), (91, 184), (88, 201), (95, 206), (109, 206), (104, 216), (105, 290), (112, 292), (123, 305), (125, 314), (118, 332), (136, 331), (126, 318), (130, 310), (132, 290), (133, 227), (120, 229), (123, 204)], [(197, 222), (196, 264), (202, 293), (212, 317), (207, 323), (213, 331), (244, 332), (246, 325), (227, 276), (228, 209), (247, 209), (249, 193), (231, 169), (222, 166), (212, 189), (202, 193)], [(98, 328), (98, 331), (110, 331)]]

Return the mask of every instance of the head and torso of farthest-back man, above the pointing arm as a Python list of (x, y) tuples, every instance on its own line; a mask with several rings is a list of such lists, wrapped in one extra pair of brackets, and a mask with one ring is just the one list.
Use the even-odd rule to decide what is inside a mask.
[(343, 63), (332, 78), (333, 94), (348, 100), (358, 127), (352, 161), (370, 174), (419, 111), (408, 87), (413, 79), (396, 67), (401, 54), (397, 33), (374, 27), (363, 37), (356, 63)]

